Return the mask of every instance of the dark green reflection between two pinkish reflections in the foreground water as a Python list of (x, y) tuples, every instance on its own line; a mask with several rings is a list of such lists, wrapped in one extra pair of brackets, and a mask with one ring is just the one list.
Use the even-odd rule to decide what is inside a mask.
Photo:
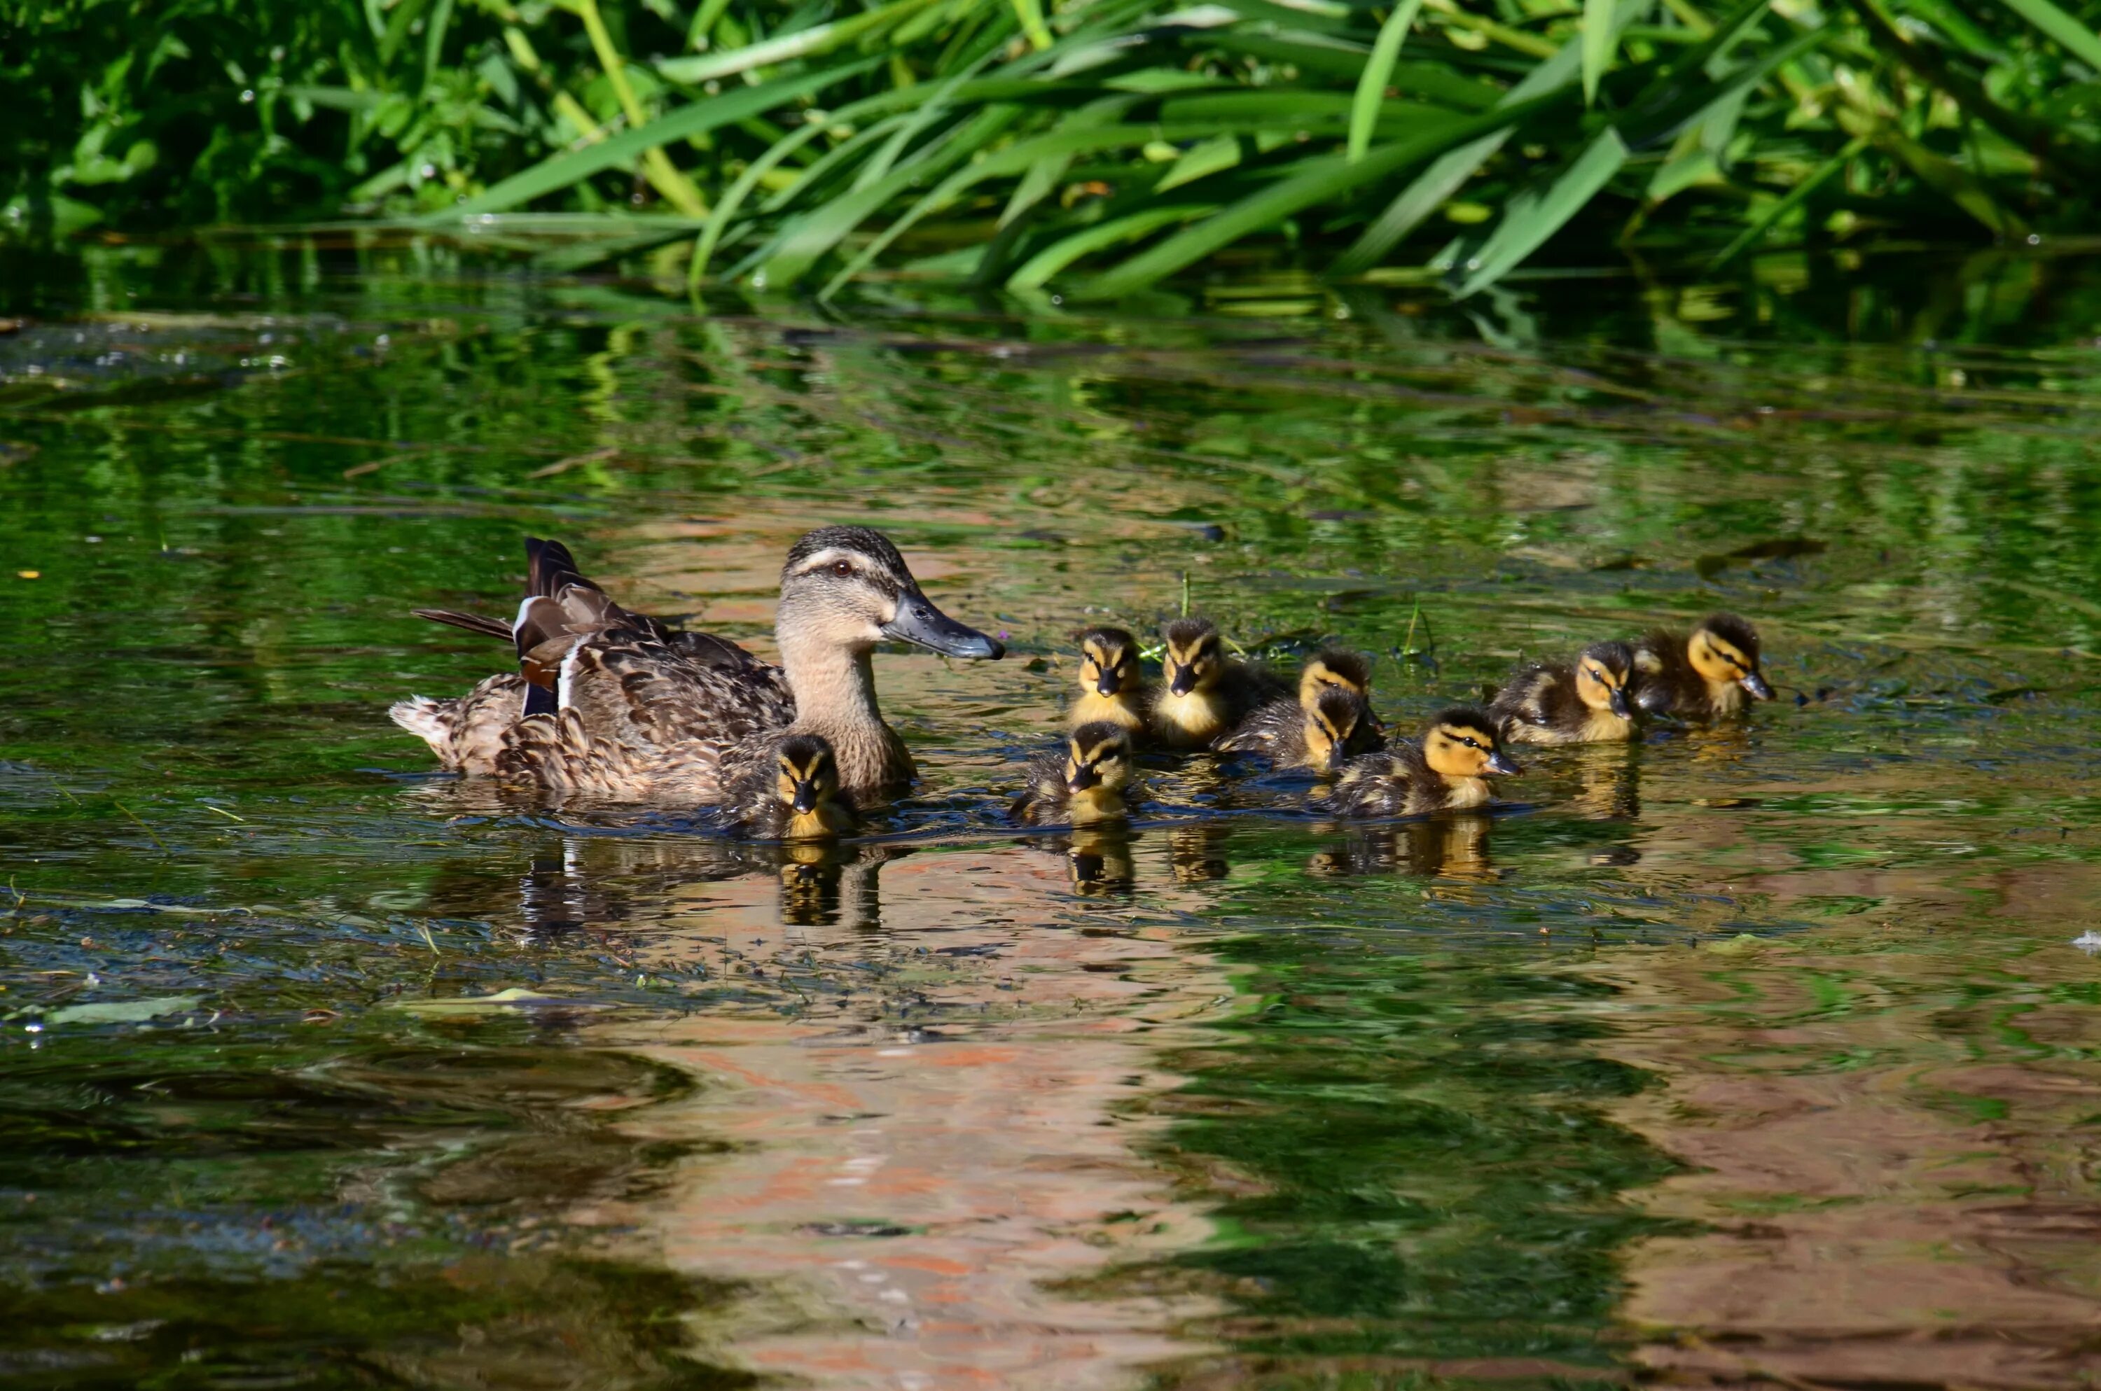
[[(1288, 893), (1235, 914), (1294, 922)], [(1616, 1252), (1664, 1229), (1622, 1193), (1672, 1170), (1597, 1114), (1645, 1084), (1567, 1011), (1609, 992), (1349, 929), (1214, 952), (1267, 1004), (1177, 1061), (1164, 1160), (1227, 1175), (1223, 1240), (1103, 1284), (1223, 1296), (1198, 1332), (1242, 1353), (1603, 1362)]]

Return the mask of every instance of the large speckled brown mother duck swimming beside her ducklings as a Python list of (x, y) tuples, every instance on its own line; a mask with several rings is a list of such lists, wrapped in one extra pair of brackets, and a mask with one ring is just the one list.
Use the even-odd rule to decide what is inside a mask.
[[(458, 700), (393, 706), (450, 771), (557, 792), (677, 796), (723, 805), (771, 769), (786, 735), (817, 735), (843, 790), (880, 798), (912, 782), (912, 754), (876, 708), (876, 643), (952, 658), (1000, 658), (920, 593), (880, 532), (819, 527), (788, 551), (773, 632), (782, 664), (735, 643), (679, 632), (622, 609), (578, 574), (559, 542), (525, 542), (529, 574), (515, 622), (418, 609), (517, 643), (517, 674)], [(771, 784), (769, 784), (771, 786)]]

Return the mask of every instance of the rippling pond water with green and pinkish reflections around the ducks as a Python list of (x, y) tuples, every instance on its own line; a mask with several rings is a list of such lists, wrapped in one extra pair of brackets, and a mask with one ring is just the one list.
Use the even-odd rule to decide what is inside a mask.
[[(1771, 267), (1767, 267), (1771, 271)], [(1857, 269), (1857, 267), (1855, 267)], [(15, 254), (0, 1383), (2090, 1385), (2101, 279), (719, 305), (443, 246)], [(433, 775), (521, 536), (771, 653), (805, 527), (998, 664), (826, 864)], [(1338, 830), (1017, 836), (1088, 622), (1780, 700)]]

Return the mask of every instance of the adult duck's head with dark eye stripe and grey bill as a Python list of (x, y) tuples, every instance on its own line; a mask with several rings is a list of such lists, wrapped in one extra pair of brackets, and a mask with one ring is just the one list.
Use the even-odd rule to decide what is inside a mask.
[(798, 643), (866, 651), (903, 641), (950, 658), (1006, 656), (994, 639), (933, 607), (897, 546), (868, 527), (819, 527), (788, 551), (775, 628), (784, 651)]

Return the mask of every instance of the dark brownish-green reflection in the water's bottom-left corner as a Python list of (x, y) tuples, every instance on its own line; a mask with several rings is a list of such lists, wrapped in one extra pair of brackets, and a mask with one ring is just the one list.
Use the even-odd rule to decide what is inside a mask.
[(672, 1355), (731, 1288), (565, 1254), (569, 1204), (674, 1158), (590, 1103), (687, 1078), (519, 1025), (448, 1042), (76, 1034), (13, 1057), (8, 1362), (74, 1370), (42, 1385), (742, 1385)]

